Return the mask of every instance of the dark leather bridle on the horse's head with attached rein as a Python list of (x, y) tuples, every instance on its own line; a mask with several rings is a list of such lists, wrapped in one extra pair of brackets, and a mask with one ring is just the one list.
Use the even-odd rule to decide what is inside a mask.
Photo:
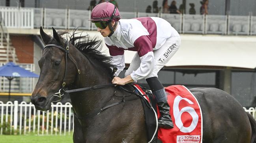
[(72, 60), (72, 58), (69, 56), (69, 42), (67, 40), (65, 40), (65, 48), (61, 47), (60, 45), (57, 45), (57, 44), (47, 44), (47, 45), (45, 45), (45, 48), (47, 48), (47, 47), (56, 47), (56, 48), (59, 48), (59, 49), (61, 49), (62, 51), (65, 52), (65, 72), (64, 72), (63, 83), (62, 83), (62, 86), (61, 86), (59, 92), (56, 92), (52, 95), (52, 96), (57, 96), (59, 98), (58, 100), (53, 101), (53, 102), (60, 101), (62, 99), (62, 96), (65, 93), (71, 93), (71, 92), (77, 92), (77, 91), (87, 91), (87, 90), (91, 90), (91, 89), (100, 89), (100, 88), (110, 87), (110, 86), (116, 85), (116, 84), (111, 83), (111, 84), (95, 85), (95, 86), (91, 86), (91, 87), (84, 87), (84, 88), (80, 88), (80, 89), (72, 89), (72, 90), (65, 91), (66, 74), (67, 74), (67, 58), (69, 58), (69, 60), (71, 60), (75, 64), (75, 66), (77, 68), (77, 72), (78, 72), (78, 80), (79, 80), (79, 75), (80, 75), (81, 71), (78, 68), (77, 63), (75, 62), (75, 60)]

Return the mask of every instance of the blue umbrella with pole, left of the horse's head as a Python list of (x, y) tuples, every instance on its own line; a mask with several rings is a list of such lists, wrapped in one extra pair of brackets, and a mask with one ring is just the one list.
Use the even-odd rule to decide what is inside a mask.
[(19, 65), (15, 65), (13, 62), (6, 63), (0, 67), (0, 76), (5, 76), (9, 80), (9, 97), (8, 100), (10, 101), (10, 93), (11, 93), (11, 80), (16, 77), (31, 77), (31, 78), (38, 78), (37, 74), (30, 72)]

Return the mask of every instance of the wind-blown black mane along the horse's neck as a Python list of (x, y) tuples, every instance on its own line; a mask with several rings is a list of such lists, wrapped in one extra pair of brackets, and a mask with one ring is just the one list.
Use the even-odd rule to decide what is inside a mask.
[(99, 62), (101, 67), (106, 69), (110, 76), (112, 76), (111, 67), (114, 67), (114, 65), (111, 64), (112, 58), (100, 52), (102, 49), (102, 40), (98, 40), (96, 36), (90, 37), (88, 34), (82, 36), (82, 32), (76, 32), (77, 29), (78, 28), (75, 28), (73, 32), (58, 31), (58, 34), (60, 34), (60, 36), (67, 34), (67, 39), (69, 39), (72, 45), (82, 52), (84, 56)]

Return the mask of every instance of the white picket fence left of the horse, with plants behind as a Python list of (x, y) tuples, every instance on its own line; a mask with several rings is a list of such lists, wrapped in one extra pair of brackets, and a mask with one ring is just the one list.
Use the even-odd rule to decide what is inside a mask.
[(38, 134), (66, 135), (73, 132), (71, 103), (52, 104), (48, 112), (36, 110), (32, 103), (0, 101), (0, 135)]

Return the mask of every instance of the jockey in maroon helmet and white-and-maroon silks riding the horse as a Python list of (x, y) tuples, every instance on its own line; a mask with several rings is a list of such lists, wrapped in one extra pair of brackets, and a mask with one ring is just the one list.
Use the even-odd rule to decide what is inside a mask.
[[(180, 36), (171, 24), (162, 18), (120, 19), (117, 7), (109, 2), (96, 5), (90, 19), (96, 25), (97, 31), (105, 37), (112, 62), (118, 67), (112, 83), (125, 85), (146, 79), (161, 113), (158, 125), (171, 129), (173, 123), (169, 113), (170, 107), (157, 73), (179, 49)], [(125, 72), (125, 78), (119, 78), (118, 74), (125, 68), (124, 50), (136, 51), (137, 54)]]

